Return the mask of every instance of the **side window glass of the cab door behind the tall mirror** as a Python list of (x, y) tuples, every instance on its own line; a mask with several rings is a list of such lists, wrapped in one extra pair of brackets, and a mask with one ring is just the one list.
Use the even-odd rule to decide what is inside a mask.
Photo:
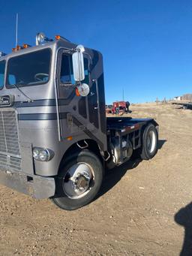
[[(89, 84), (89, 61), (86, 58), (84, 58), (84, 69), (85, 69), (85, 80), (83, 80), (82, 83)], [(65, 84), (75, 83), (71, 55), (62, 54), (60, 81)]]

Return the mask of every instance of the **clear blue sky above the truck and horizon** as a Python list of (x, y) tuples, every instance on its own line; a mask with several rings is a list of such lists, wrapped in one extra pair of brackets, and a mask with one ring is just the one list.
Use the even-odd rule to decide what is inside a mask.
[(0, 50), (63, 35), (104, 55), (107, 103), (154, 101), (192, 92), (190, 0), (0, 0)]

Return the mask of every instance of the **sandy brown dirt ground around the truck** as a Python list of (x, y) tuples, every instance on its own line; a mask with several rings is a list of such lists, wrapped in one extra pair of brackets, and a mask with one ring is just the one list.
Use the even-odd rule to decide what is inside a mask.
[(157, 155), (107, 173), (77, 211), (0, 186), (0, 255), (192, 255), (192, 110), (137, 104), (160, 125)]

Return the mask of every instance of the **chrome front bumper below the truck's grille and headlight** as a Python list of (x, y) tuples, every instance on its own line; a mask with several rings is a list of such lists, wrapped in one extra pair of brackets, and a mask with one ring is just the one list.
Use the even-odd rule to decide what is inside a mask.
[(36, 199), (49, 198), (55, 194), (55, 179), (52, 177), (0, 170), (0, 184)]

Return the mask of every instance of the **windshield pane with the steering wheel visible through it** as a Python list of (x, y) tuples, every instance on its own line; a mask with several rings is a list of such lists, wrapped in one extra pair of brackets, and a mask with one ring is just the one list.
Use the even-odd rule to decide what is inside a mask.
[(44, 49), (11, 58), (7, 63), (6, 86), (34, 86), (49, 80), (51, 50)]

